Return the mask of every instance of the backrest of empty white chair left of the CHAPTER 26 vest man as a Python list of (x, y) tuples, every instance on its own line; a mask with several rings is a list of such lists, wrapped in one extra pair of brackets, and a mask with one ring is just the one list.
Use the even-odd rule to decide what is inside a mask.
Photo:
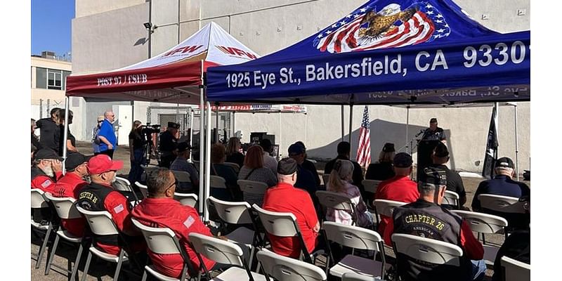
[(379, 233), (358, 226), (347, 226), (333, 221), (322, 223), (322, 230), (329, 241), (354, 249), (374, 250), (382, 253), (382, 238)]

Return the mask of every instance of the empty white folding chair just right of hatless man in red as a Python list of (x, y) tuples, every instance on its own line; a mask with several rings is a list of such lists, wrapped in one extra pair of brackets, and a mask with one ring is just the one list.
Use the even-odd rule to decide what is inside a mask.
[(244, 260), (244, 252), (237, 244), (233, 242), (224, 241), (216, 237), (209, 237), (200, 233), (190, 233), (189, 241), (195, 249), (195, 253), (200, 260), (200, 264), (207, 276), (209, 268), (207, 268), (201, 256), (207, 259), (216, 261), (217, 263), (231, 265), (226, 271), (214, 277), (213, 280), (220, 281), (258, 281), (266, 280), (264, 275), (250, 271), (249, 263)]

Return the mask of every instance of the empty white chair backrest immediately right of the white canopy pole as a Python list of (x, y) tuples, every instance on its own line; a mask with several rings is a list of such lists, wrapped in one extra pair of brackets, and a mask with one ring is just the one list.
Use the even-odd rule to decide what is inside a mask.
[(207, 198), (207, 205), (214, 207), (218, 217), (226, 223), (245, 224), (252, 223), (250, 216), (250, 204), (248, 202), (228, 202), (218, 200), (215, 197)]

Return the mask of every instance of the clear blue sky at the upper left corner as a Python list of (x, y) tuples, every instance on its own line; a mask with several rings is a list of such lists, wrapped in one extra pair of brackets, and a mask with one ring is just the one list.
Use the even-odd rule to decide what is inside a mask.
[(31, 0), (31, 54), (72, 51), (74, 0)]

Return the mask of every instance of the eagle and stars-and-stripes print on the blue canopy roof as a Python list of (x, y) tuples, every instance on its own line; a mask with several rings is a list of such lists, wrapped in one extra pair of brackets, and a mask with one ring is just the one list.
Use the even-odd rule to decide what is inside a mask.
[(428, 2), (420, 1), (402, 10), (389, 4), (380, 11), (364, 6), (322, 30), (314, 46), (322, 52), (345, 53), (430, 42), (449, 36), (443, 15)]

